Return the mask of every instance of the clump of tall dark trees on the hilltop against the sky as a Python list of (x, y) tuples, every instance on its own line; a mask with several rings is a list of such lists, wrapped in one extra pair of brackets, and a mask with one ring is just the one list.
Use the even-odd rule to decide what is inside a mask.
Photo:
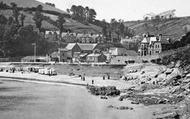
[(71, 18), (86, 24), (93, 23), (97, 15), (94, 9), (81, 5), (72, 5), (70, 9), (67, 9), (67, 12), (71, 14)]

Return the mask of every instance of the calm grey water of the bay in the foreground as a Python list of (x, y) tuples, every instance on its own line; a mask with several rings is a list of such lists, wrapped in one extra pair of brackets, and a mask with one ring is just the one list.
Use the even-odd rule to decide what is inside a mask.
[[(118, 98), (102, 100), (84, 87), (0, 79), (0, 119), (151, 119), (158, 107), (132, 105)], [(129, 106), (114, 110), (107, 106)]]

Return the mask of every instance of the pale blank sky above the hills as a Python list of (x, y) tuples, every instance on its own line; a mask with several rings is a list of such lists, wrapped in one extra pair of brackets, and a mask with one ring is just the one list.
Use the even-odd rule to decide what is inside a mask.
[(54, 3), (65, 10), (72, 5), (88, 6), (97, 12), (96, 18), (110, 21), (112, 18), (124, 21), (142, 20), (147, 13), (161, 13), (176, 10), (176, 16), (190, 16), (190, 0), (38, 0)]

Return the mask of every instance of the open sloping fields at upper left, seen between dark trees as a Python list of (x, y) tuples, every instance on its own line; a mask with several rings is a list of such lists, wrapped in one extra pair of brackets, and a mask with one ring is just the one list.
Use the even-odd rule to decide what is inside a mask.
[[(6, 3), (7, 5), (10, 5), (10, 3), (14, 2), (17, 4), (18, 7), (23, 7), (23, 8), (32, 8), (32, 7), (37, 7), (38, 5), (42, 5), (43, 6), (43, 10), (48, 10), (48, 11), (55, 11), (61, 14), (68, 14), (67, 12), (60, 10), (58, 8), (52, 7), (50, 5), (46, 5), (42, 2), (36, 1), (36, 0), (0, 0), (0, 2)], [(33, 21), (33, 14), (30, 12), (24, 12), (22, 11), (25, 15), (25, 21), (24, 24), (25, 25), (35, 25), (34, 21)], [(0, 10), (0, 14), (5, 15), (6, 17), (9, 17), (12, 15), (12, 11), (11, 10)], [(50, 19), (52, 20), (57, 20), (56, 15), (53, 14), (48, 14), (48, 13), (44, 13), (45, 16), (50, 17)], [(65, 18), (66, 19), (66, 23), (64, 24), (66, 29), (71, 29), (74, 32), (85, 32), (85, 31), (89, 31), (92, 33), (99, 33), (102, 31), (102, 28), (99, 26), (95, 26), (92, 24), (89, 25), (84, 25), (78, 21), (72, 20), (71, 18)], [(43, 21), (42, 23), (42, 27), (45, 29), (57, 29), (54, 25), (50, 24), (47, 21)]]

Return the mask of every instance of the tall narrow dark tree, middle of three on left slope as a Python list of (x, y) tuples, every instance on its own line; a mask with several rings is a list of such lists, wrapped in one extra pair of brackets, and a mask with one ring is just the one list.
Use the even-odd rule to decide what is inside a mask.
[(44, 20), (44, 16), (42, 15), (42, 9), (43, 7), (41, 5), (38, 5), (36, 7), (36, 12), (34, 14), (33, 20), (35, 21), (36, 27), (39, 29), (41, 32), (41, 26), (42, 26), (42, 21)]

